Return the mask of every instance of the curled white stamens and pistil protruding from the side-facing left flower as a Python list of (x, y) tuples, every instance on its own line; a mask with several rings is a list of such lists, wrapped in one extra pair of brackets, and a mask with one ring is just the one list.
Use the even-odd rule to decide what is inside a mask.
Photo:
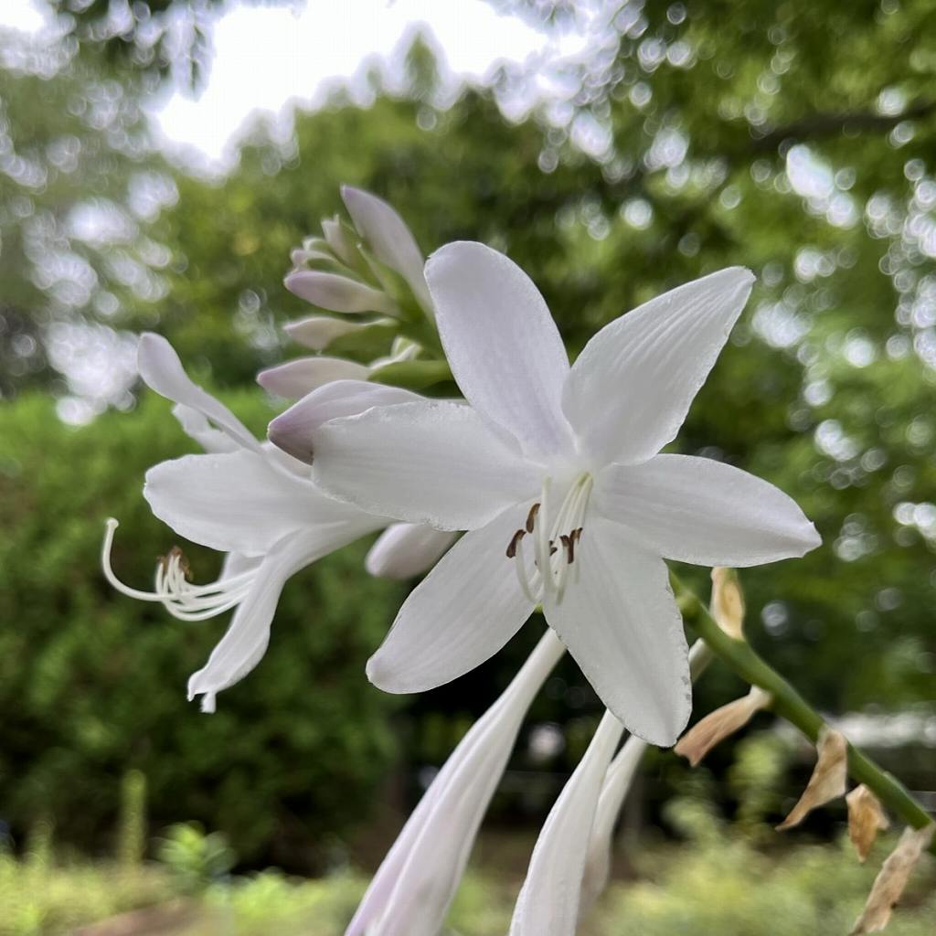
[(188, 563), (182, 549), (173, 547), (167, 556), (156, 563), (155, 591), (140, 592), (139, 589), (124, 585), (110, 566), (110, 550), (117, 526), (117, 520), (108, 520), (101, 555), (104, 577), (118, 592), (139, 601), (157, 601), (180, 621), (204, 621), (236, 607), (250, 591), (256, 577), (256, 570), (249, 569), (240, 575), (221, 578), (207, 585), (193, 585), (188, 580)]

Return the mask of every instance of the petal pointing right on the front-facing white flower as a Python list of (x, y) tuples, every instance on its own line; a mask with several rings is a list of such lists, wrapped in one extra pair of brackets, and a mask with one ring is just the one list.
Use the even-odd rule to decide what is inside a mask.
[(643, 546), (683, 563), (746, 566), (802, 556), (820, 543), (795, 501), (721, 461), (658, 455), (610, 465), (595, 481), (595, 509)]

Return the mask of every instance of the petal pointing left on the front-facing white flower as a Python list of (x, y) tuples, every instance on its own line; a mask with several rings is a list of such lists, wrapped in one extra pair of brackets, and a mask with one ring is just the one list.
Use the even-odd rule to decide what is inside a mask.
[(533, 497), (540, 469), (470, 406), (426, 400), (376, 406), (313, 433), (315, 482), (368, 513), (469, 530)]

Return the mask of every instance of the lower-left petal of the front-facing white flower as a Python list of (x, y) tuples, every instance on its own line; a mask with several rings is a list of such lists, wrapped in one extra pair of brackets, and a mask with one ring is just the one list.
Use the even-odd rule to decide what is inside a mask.
[(484, 663), (530, 617), (514, 562), (505, 556), (523, 506), (464, 534), (403, 603), (368, 679), (388, 693), (420, 693)]

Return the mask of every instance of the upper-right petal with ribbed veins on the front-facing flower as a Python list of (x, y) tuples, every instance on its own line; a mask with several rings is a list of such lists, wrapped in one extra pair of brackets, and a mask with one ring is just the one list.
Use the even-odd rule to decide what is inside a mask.
[(636, 464), (671, 442), (751, 292), (730, 267), (601, 329), (569, 373), (563, 410), (596, 465)]

